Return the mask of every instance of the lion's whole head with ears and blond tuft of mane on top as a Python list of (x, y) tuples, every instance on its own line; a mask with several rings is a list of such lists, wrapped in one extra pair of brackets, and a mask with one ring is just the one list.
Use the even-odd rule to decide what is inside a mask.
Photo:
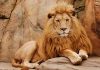
[(75, 12), (72, 5), (67, 3), (57, 4), (48, 14), (45, 33), (54, 36), (67, 37), (74, 25)]

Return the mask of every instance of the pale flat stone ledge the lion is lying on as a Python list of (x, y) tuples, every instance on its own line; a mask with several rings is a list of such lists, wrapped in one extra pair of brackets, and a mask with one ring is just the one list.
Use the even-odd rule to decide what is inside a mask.
[[(0, 70), (20, 70), (20, 68), (12, 67), (10, 63), (0, 62)], [(100, 70), (100, 57), (90, 57), (79, 66), (72, 65), (64, 57), (53, 58), (42, 63), (36, 70)]]

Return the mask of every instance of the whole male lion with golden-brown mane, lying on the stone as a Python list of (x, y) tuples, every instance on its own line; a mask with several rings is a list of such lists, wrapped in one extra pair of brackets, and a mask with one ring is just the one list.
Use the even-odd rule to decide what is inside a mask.
[(37, 67), (39, 62), (57, 56), (67, 57), (72, 64), (80, 64), (92, 52), (85, 29), (74, 16), (70, 4), (58, 3), (48, 14), (41, 38), (24, 44), (12, 60), (13, 66)]

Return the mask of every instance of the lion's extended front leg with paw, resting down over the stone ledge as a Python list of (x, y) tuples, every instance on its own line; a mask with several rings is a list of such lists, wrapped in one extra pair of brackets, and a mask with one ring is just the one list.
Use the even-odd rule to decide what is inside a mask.
[(76, 52), (69, 49), (64, 50), (62, 56), (69, 58), (74, 65), (81, 64), (82, 62), (81, 57)]

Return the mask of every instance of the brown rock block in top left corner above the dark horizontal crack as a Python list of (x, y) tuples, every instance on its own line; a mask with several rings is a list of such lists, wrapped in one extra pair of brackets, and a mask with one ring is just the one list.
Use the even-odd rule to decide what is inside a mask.
[(17, 0), (0, 0), (0, 17), (10, 18)]

